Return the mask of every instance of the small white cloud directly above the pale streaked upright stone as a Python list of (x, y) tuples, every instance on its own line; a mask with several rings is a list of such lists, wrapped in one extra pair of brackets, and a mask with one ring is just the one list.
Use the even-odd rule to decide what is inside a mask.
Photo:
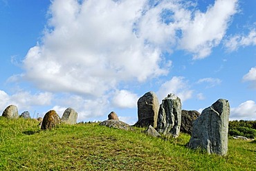
[(192, 97), (193, 90), (190, 90), (190, 86), (188, 86), (188, 81), (185, 81), (184, 77), (172, 77), (170, 81), (166, 81), (161, 85), (158, 92), (158, 100), (161, 101), (167, 94), (176, 94), (181, 101), (185, 101)]

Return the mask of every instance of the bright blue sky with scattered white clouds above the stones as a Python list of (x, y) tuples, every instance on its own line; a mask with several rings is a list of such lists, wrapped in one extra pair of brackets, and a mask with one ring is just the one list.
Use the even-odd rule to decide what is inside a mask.
[(138, 121), (173, 93), (201, 112), (228, 99), (256, 120), (255, 0), (0, 0), (0, 112), (66, 108), (77, 121)]

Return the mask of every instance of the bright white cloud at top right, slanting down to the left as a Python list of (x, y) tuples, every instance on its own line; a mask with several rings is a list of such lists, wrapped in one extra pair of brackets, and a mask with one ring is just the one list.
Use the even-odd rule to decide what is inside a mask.
[(205, 13), (194, 12), (194, 19), (183, 26), (181, 48), (194, 53), (194, 59), (207, 57), (223, 39), (236, 12), (237, 0), (217, 0)]

